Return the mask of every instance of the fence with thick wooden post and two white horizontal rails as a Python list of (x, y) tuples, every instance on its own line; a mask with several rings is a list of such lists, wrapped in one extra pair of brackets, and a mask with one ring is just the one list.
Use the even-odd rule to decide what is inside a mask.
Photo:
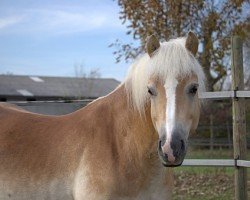
[(200, 98), (206, 99), (232, 99), (233, 116), (233, 159), (185, 159), (183, 166), (227, 166), (235, 168), (235, 199), (247, 200), (247, 167), (250, 161), (246, 159), (246, 116), (245, 98), (250, 97), (250, 91), (244, 90), (242, 41), (238, 36), (231, 39), (231, 70), (232, 91), (205, 92)]

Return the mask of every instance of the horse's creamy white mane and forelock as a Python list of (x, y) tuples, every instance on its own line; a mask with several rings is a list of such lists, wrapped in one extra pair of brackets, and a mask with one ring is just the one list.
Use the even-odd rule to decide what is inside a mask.
[(205, 89), (203, 70), (191, 52), (185, 47), (186, 38), (177, 38), (163, 42), (150, 59), (148, 54), (137, 58), (131, 65), (125, 78), (125, 88), (130, 104), (140, 113), (144, 113), (149, 100), (147, 83), (149, 78), (166, 79), (185, 77), (192, 73), (198, 76), (199, 92)]

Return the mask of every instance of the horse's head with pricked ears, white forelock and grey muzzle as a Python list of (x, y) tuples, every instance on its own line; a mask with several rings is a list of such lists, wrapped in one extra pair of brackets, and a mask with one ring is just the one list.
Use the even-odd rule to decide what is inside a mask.
[[(151, 118), (159, 134), (158, 153), (164, 166), (178, 166), (183, 162), (189, 133), (197, 128), (200, 115), (198, 88), (202, 70), (188, 66), (200, 67), (194, 58), (198, 39), (189, 32), (184, 42), (182, 46), (160, 44), (155, 36), (150, 36), (146, 46), (151, 65), (147, 81)], [(153, 68), (162, 67), (167, 69), (153, 72)]]

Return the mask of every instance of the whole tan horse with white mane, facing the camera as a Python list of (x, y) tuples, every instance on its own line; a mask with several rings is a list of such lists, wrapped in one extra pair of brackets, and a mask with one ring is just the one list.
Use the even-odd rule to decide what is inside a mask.
[(182, 163), (199, 120), (197, 48), (192, 32), (151, 36), (118, 88), (68, 115), (0, 104), (0, 199), (169, 199), (163, 165)]

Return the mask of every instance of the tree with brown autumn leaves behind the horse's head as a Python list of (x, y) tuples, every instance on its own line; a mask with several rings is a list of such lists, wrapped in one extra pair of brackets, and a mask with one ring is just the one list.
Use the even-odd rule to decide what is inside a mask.
[(116, 61), (129, 61), (144, 51), (147, 36), (159, 38), (185, 36), (193, 30), (202, 43), (198, 59), (207, 76), (207, 87), (214, 86), (227, 74), (230, 36), (243, 38), (249, 29), (249, 0), (117, 0), (121, 8), (120, 19), (127, 23), (127, 34), (140, 45), (122, 44), (117, 40)]

